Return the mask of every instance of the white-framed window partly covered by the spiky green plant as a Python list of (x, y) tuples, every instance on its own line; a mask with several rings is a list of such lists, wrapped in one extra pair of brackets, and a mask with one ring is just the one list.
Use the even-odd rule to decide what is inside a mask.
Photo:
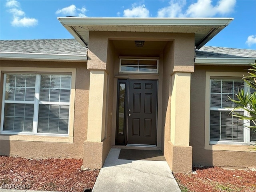
[[(235, 104), (229, 97), (237, 100), (238, 89), (247, 91), (250, 88), (244, 84), (242, 78), (232, 77), (211, 77), (210, 78), (210, 144), (248, 144), (256, 142), (254, 130), (246, 127), (250, 126), (248, 120), (238, 120), (230, 114)], [(244, 110), (236, 111), (246, 114)]]

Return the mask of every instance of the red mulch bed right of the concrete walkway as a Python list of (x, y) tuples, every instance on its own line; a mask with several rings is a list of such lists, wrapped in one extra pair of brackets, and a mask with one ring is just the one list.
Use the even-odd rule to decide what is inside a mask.
[(197, 174), (174, 174), (180, 188), (188, 192), (256, 192), (256, 171), (220, 167), (193, 168)]

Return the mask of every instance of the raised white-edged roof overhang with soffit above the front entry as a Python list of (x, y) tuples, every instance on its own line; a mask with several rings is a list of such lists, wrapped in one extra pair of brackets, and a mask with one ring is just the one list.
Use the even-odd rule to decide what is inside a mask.
[(58, 17), (60, 23), (83, 46), (88, 46), (90, 31), (194, 33), (200, 49), (233, 18), (93, 18)]

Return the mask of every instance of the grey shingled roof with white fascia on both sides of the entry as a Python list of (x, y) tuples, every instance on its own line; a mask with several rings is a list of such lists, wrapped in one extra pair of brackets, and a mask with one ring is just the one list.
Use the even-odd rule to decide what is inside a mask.
[[(86, 61), (87, 50), (76, 39), (0, 40), (2, 59)], [(250, 49), (203, 46), (195, 52), (196, 64), (246, 64), (256, 60), (256, 50)]]

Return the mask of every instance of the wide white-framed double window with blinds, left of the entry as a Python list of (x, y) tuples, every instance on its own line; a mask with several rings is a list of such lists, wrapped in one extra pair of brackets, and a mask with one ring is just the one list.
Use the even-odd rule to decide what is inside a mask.
[(68, 135), (70, 74), (4, 73), (1, 133)]

